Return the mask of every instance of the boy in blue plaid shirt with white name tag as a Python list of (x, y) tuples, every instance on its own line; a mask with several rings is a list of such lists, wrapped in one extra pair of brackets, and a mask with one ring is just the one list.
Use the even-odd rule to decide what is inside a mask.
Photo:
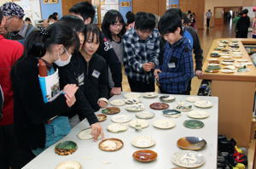
[(159, 25), (161, 36), (166, 40), (160, 65), (154, 76), (160, 83), (161, 93), (189, 94), (187, 87), (194, 76), (192, 48), (183, 37), (182, 20), (177, 14), (165, 14)]

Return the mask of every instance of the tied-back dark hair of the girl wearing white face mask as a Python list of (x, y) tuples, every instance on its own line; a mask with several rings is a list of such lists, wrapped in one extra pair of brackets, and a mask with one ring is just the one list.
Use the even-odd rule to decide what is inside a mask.
[(62, 44), (64, 48), (79, 49), (79, 37), (76, 32), (62, 22), (49, 25), (45, 30), (32, 31), (25, 42), (25, 52), (22, 58), (42, 57), (53, 44)]

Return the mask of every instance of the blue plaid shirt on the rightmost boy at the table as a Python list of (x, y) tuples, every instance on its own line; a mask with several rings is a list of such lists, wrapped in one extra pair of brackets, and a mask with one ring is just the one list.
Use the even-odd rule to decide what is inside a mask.
[[(182, 37), (171, 45), (166, 42), (162, 62), (158, 67), (160, 87), (167, 93), (184, 93), (194, 76), (192, 48), (189, 40)], [(175, 63), (175, 67), (171, 65)], [(170, 66), (169, 66), (170, 65)]]

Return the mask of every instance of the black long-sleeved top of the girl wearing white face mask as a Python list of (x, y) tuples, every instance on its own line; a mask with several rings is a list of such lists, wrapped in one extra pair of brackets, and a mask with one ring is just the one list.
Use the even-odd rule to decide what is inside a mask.
[(38, 59), (27, 57), (11, 70), (14, 90), (15, 137), (29, 149), (44, 148), (44, 124), (69, 110), (63, 94), (47, 104), (38, 80)]

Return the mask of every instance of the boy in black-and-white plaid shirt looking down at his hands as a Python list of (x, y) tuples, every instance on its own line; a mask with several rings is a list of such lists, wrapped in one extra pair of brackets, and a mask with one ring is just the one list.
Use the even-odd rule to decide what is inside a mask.
[(125, 74), (131, 92), (154, 92), (153, 72), (160, 54), (160, 34), (154, 27), (154, 14), (139, 12), (135, 29), (123, 37)]

